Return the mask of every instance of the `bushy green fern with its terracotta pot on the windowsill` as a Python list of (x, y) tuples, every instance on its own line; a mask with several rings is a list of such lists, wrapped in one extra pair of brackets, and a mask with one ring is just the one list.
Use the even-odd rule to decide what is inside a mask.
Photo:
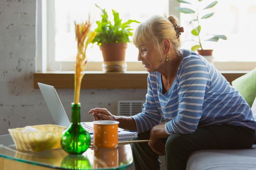
[[(95, 4), (96, 5), (96, 4)], [(98, 5), (96, 7), (100, 8)], [(123, 72), (126, 70), (125, 53), (127, 42), (131, 42), (129, 36), (132, 36), (133, 29), (130, 23), (139, 23), (136, 20), (128, 20), (122, 23), (119, 13), (112, 10), (114, 24), (108, 20), (108, 14), (105, 9), (102, 11), (101, 21), (96, 21), (97, 28), (94, 30), (95, 37), (92, 43), (97, 42), (103, 56), (102, 69), (106, 72)]]

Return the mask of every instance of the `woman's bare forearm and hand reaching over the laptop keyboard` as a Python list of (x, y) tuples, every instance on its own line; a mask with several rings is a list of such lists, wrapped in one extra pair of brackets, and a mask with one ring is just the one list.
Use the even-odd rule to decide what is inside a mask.
[(126, 116), (115, 116), (108, 112), (107, 109), (102, 108), (94, 108), (91, 109), (88, 113), (92, 114), (94, 117), (94, 120), (115, 120), (119, 121), (119, 128), (128, 129), (137, 131), (135, 120), (131, 117)]

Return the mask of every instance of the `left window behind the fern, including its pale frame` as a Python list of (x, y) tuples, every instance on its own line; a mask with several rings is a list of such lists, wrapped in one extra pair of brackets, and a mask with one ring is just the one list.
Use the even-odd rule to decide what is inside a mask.
[[(43, 2), (42, 2), (43, 3)], [(91, 20), (98, 21), (101, 19), (101, 8), (105, 8), (110, 21), (113, 22), (112, 9), (119, 13), (119, 17), (123, 22), (128, 19), (135, 19), (137, 21), (145, 21), (154, 14), (163, 15), (168, 13), (168, 1), (159, 0), (155, 3), (148, 3), (147, 0), (48, 0), (46, 4), (47, 21), (47, 69), (48, 70), (73, 70), (74, 60), (76, 56), (76, 42), (74, 21), (81, 22), (88, 18), (90, 13)], [(92, 24), (91, 30), (96, 28), (96, 23)], [(138, 23), (132, 23), (131, 28), (135, 29)], [(92, 45), (91, 45), (92, 46)], [(103, 61), (101, 51), (95, 43), (92, 48), (87, 47), (86, 54), (88, 61), (93, 63), (92, 69), (98, 68), (101, 70), (101, 63)], [(133, 62), (132, 68), (137, 69), (141, 67), (137, 61), (138, 49), (132, 44), (128, 43), (126, 50), (126, 61)], [(135, 63), (134, 63), (135, 62)], [(90, 67), (91, 64), (87, 64)], [(89, 68), (90, 69), (90, 68)]]

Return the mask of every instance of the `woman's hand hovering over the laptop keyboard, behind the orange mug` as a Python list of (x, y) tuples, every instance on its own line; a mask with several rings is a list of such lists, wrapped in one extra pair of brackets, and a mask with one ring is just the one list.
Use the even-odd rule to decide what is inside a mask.
[(92, 114), (94, 120), (116, 120), (117, 117), (108, 112), (107, 109), (94, 108), (91, 109), (88, 113)]

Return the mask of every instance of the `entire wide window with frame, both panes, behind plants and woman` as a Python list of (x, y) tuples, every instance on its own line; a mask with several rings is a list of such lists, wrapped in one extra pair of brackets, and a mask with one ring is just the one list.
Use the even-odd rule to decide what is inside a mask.
[[(190, 1), (190, 0), (187, 0)], [(194, 0), (197, 2), (198, 0)], [(211, 0), (206, 0), (208, 5)], [(192, 16), (179, 14), (174, 7), (180, 4), (176, 0), (111, 0), (111, 3), (104, 0), (84, 1), (84, 0), (46, 0), (38, 1), (38, 71), (73, 70), (76, 55), (76, 43), (74, 32), (74, 21), (81, 22), (87, 19), (90, 13), (91, 19), (99, 20), (101, 11), (95, 4), (106, 8), (111, 21), (111, 9), (119, 12), (123, 21), (136, 19), (143, 22), (152, 15), (163, 15), (165, 12), (175, 13), (180, 17), (181, 26), (185, 32), (181, 36), (182, 48), (190, 49), (193, 46), (191, 30), (195, 27), (188, 22)], [(187, 4), (181, 4), (186, 7)], [(242, 6), (242, 7), (241, 7)], [(42, 7), (42, 11), (41, 11)], [(256, 67), (256, 56), (251, 53), (254, 49), (256, 39), (256, 2), (248, 0), (243, 3), (239, 0), (225, 0), (212, 9), (215, 14), (202, 21), (202, 31), (212, 34), (224, 34), (228, 40), (219, 42), (204, 43), (214, 49), (215, 66), (219, 70), (251, 70)], [(40, 26), (42, 23), (42, 27)], [(133, 29), (138, 24), (133, 23)], [(39, 28), (40, 27), (40, 28)], [(92, 30), (96, 27), (94, 23)], [(41, 31), (42, 28), (42, 31)], [(41, 34), (42, 33), (42, 38)], [(46, 39), (47, 37), (47, 39)], [(42, 48), (41, 48), (42, 47)], [(43, 54), (42, 54), (43, 53)], [(137, 62), (138, 50), (133, 44), (128, 44), (126, 51), (126, 61), (128, 70), (145, 70)], [(47, 56), (47, 57), (46, 57)], [(89, 63), (88, 70), (101, 70), (102, 54), (99, 47), (94, 44), (92, 49), (87, 48)], [(43, 61), (42, 63), (40, 61)], [(228, 62), (228, 63), (227, 63)], [(243, 62), (243, 64), (241, 64)]]

